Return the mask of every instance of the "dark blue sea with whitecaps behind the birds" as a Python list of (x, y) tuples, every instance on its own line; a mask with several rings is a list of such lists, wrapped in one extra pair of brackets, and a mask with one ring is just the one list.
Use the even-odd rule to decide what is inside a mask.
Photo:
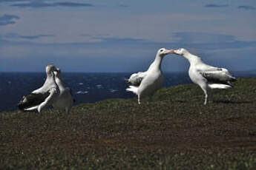
[[(70, 73), (62, 72), (62, 81), (73, 90), (75, 104), (94, 103), (108, 98), (134, 98), (126, 92), (125, 78), (131, 73)], [(191, 84), (188, 73), (164, 73), (169, 87), (177, 84)], [(255, 77), (256, 72), (232, 72), (236, 77)], [(22, 96), (38, 89), (45, 82), (42, 72), (1, 72), (0, 73), (0, 112), (17, 109)]]

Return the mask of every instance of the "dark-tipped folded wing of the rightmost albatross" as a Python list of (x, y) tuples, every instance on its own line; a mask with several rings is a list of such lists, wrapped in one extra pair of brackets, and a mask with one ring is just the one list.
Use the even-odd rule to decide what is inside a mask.
[(226, 84), (232, 86), (231, 82), (236, 81), (236, 78), (234, 78), (227, 69), (223, 68), (200, 71), (200, 74), (203, 75), (210, 84)]

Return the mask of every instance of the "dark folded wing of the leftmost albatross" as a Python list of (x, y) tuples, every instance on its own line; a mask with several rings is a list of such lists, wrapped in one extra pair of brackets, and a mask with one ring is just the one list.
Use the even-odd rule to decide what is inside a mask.
[(38, 106), (40, 103), (44, 102), (45, 99), (50, 95), (50, 92), (45, 93), (30, 93), (24, 95), (22, 100), (18, 103), (19, 109), (24, 111), (24, 109)]

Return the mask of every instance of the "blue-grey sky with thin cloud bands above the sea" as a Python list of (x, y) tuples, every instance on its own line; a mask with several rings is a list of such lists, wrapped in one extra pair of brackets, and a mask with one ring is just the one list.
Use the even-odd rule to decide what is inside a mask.
[[(144, 71), (161, 47), (256, 69), (255, 16), (255, 0), (0, 0), (0, 72)], [(163, 72), (188, 67), (163, 59)]]

